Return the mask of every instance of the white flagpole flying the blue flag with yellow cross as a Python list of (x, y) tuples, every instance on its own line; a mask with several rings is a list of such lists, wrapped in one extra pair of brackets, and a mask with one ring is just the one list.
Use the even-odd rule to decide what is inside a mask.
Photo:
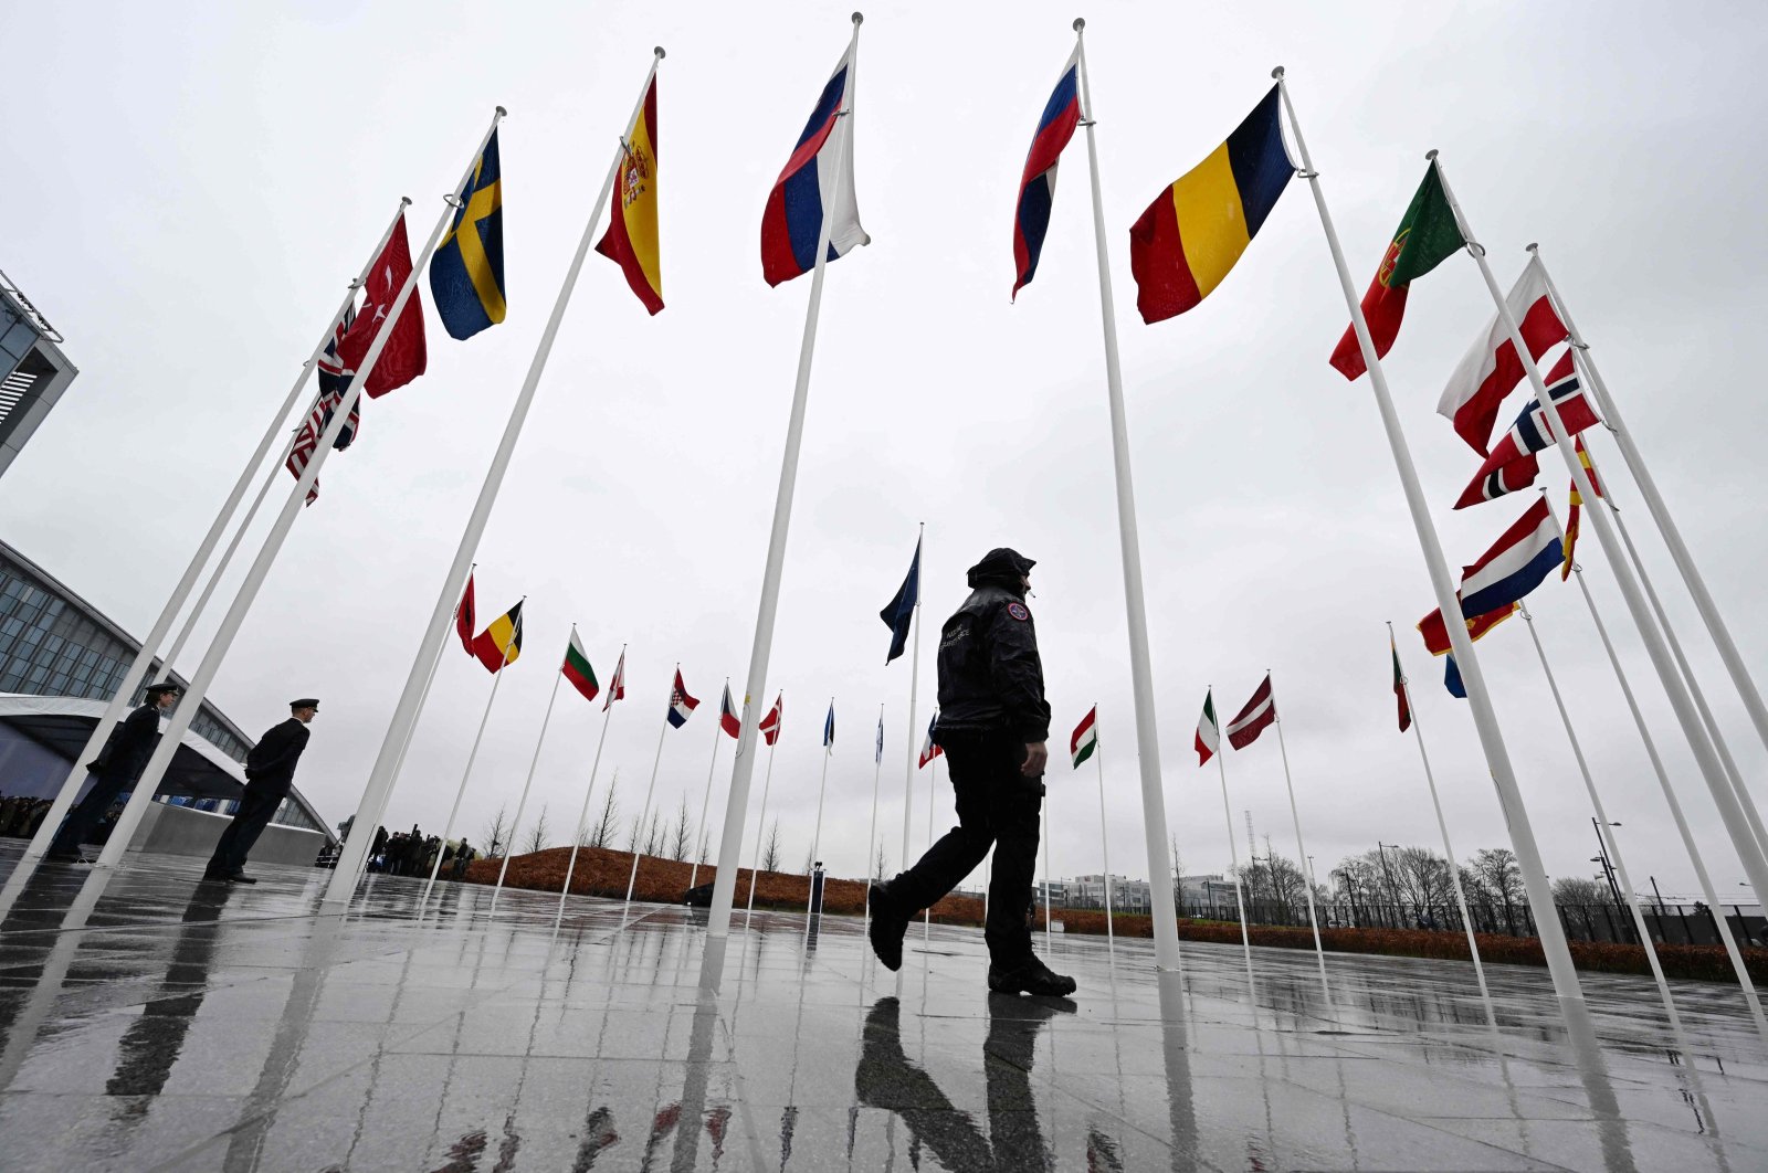
[[(461, 171), (460, 184), (456, 184), (454, 189), (463, 187), (472, 178), (472, 168), (484, 152), (484, 145), (492, 141), (492, 134), (497, 132), (497, 124), (502, 122), (502, 118), (504, 108), (499, 106), (497, 113), (492, 117), (492, 125), (484, 131), (484, 138), (479, 140), (477, 148), (474, 148), (472, 155), (467, 159), (467, 168)], [(449, 193), (449, 198), (453, 198), (453, 193)], [(339, 403), (338, 410), (332, 412), (331, 424), (327, 424), (324, 435), (320, 435), (318, 447), (308, 459), (308, 466), (301, 470), (301, 477), (288, 491), (288, 498), (283, 502), (283, 511), (271, 525), (271, 532), (263, 539), (263, 548), (258, 551), (256, 560), (253, 560), (251, 569), (246, 572), (246, 579), (240, 583), (239, 594), (233, 597), (233, 604), (221, 618), (221, 625), (216, 629), (209, 652), (191, 675), (191, 684), (184, 691), (184, 700), (179, 701), (177, 710), (171, 714), (171, 723), (168, 724), (164, 737), (161, 737), (159, 745), (154, 749), (154, 756), (147, 760), (147, 767), (143, 767), (141, 777), (136, 781), (134, 793), (129, 795), (129, 804), (117, 818), (115, 829), (111, 829), (111, 839), (104, 844), (104, 851), (99, 853), (99, 867), (115, 867), (122, 862), (124, 851), (129, 850), (134, 829), (140, 827), (141, 816), (147, 814), (147, 804), (154, 800), (154, 791), (159, 788), (159, 781), (166, 776), (166, 767), (171, 765), (171, 756), (184, 742), (184, 733), (191, 728), (191, 721), (196, 717), (203, 696), (209, 692), (209, 685), (221, 670), (221, 661), (225, 661), (226, 654), (232, 650), (233, 638), (239, 634), (240, 625), (244, 625), (246, 615), (251, 611), (251, 604), (256, 602), (258, 590), (263, 588), (263, 579), (271, 574), (276, 556), (283, 551), (283, 542), (288, 541), (288, 532), (293, 528), (295, 518), (299, 518), (301, 511), (306, 507), (308, 489), (311, 489), (313, 482), (318, 481), (325, 458), (331, 456), (332, 445), (338, 442), (338, 435), (350, 420), (350, 410), (357, 405), (362, 396), (362, 389), (368, 387), (370, 378), (375, 375), (375, 366), (380, 362), (380, 352), (385, 350), (387, 341), (392, 337), (400, 314), (405, 311), (407, 302), (410, 302), (412, 293), (417, 290), (417, 279), (430, 265), (430, 258), (435, 254), (437, 244), (442, 240), (442, 233), (447, 231), (453, 217), (454, 207), (444, 203), (435, 228), (430, 231), (430, 240), (424, 242), (423, 251), (415, 256), (412, 272), (405, 277), (405, 284), (400, 286), (400, 295), (392, 299), (392, 306), (387, 309), (387, 329), (375, 336), (373, 344), (368, 348), (368, 355), (362, 359), (361, 369), (355, 378), (350, 380), (350, 389), (345, 392), (343, 403)], [(421, 675), (423, 662), (412, 664), (414, 680)], [(361, 823), (362, 820), (357, 821)], [(339, 869), (332, 873), (332, 883), (338, 883), (341, 876), (347, 878), (354, 873), (357, 860), (361, 855), (366, 855), (368, 844), (373, 841), (373, 830), (368, 827), (352, 823), (350, 832), (352, 837), (357, 837), (357, 832), (366, 836), (361, 839), (362, 851), (357, 855), (350, 855), (347, 851), (339, 857)]]

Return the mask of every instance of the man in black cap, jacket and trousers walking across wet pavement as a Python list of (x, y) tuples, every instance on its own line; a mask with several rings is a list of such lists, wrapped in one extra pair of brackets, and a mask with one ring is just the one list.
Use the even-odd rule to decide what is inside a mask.
[(988, 880), (988, 989), (1061, 998), (1075, 979), (1052, 973), (1031, 952), (1024, 908), (1038, 862), (1045, 742), (1038, 631), (1025, 609), (1031, 558), (990, 549), (969, 569), (971, 597), (939, 636), (939, 726), (958, 825), (909, 871), (872, 887), (872, 950), (886, 968), (902, 966), (902, 938), (923, 908), (971, 874), (994, 846)]

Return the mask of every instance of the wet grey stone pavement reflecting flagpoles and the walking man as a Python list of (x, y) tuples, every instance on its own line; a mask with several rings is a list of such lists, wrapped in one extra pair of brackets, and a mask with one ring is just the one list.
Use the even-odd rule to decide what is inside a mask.
[[(0, 848), (7, 882), (16, 848)], [(707, 988), (704, 913), (325, 873), (196, 883), (156, 859), (0, 892), (0, 1168), (1768, 1169), (1736, 993), (1055, 936), (1073, 1000), (988, 996), (981, 935), (757, 913)], [(1040, 938), (1041, 940), (1041, 938)]]

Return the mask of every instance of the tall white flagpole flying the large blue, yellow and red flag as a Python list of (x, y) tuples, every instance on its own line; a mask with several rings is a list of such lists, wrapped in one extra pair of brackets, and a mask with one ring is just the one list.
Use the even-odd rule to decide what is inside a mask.
[(1276, 78), (1284, 110), (1289, 111), (1289, 129), (1294, 132), (1296, 150), (1301, 154), (1299, 175), (1308, 180), (1308, 189), (1314, 193), (1314, 207), (1321, 217), (1326, 247), (1331, 253), (1333, 267), (1338, 272), (1338, 286), (1351, 311), (1351, 327), (1356, 330), (1363, 366), (1368, 367), (1368, 387), (1376, 396), (1376, 410), (1381, 413), (1381, 426), (1393, 452), (1393, 468), (1400, 477), (1406, 507), (1418, 534), (1418, 549), (1423, 555), (1425, 571), (1430, 574), (1430, 588), (1436, 594), (1437, 608), (1443, 611), (1443, 625), (1448, 629), (1455, 664), (1460, 668), (1462, 684), (1467, 689), (1467, 707), (1473, 712), (1473, 724), (1480, 735), (1480, 747), (1485, 751), (1492, 786), (1497, 790), (1497, 804), (1505, 813), (1505, 825), (1510, 829), (1510, 843), (1517, 853), (1517, 869), (1522, 873), (1522, 887), (1528, 892), (1529, 908), (1535, 913), (1547, 973), (1552, 977), (1554, 993), (1559, 998), (1559, 1009), (1568, 1026), (1574, 1026), (1579, 1037), (1586, 1037), (1593, 1028), (1589, 1009), (1584, 1003), (1584, 991), (1577, 984), (1577, 970), (1572, 965), (1572, 949), (1565, 940), (1565, 926), (1559, 924), (1559, 915), (1554, 910), (1547, 869), (1542, 864), (1540, 846), (1535, 843), (1535, 829), (1529, 823), (1528, 809), (1522, 806), (1522, 791), (1517, 788), (1517, 774), (1510, 763), (1510, 751), (1505, 747), (1505, 735), (1497, 728), (1492, 694), (1485, 687), (1485, 673), (1480, 670), (1473, 639), (1467, 638), (1466, 617), (1460, 611), (1455, 583), (1450, 579), (1448, 562), (1443, 556), (1443, 542), (1437, 539), (1436, 523), (1430, 519), (1430, 505), (1425, 502), (1423, 488), (1418, 484), (1418, 468), (1413, 465), (1406, 433), (1400, 429), (1400, 417), (1393, 410), (1393, 396), (1388, 394), (1388, 376), (1381, 369), (1381, 357), (1376, 355), (1376, 343), (1368, 336), (1368, 322), (1363, 320), (1363, 306), (1358, 300), (1356, 286), (1351, 283), (1351, 270), (1345, 269), (1338, 230), (1333, 228), (1331, 212), (1326, 208), (1326, 194), (1321, 191), (1319, 171), (1314, 170), (1307, 140), (1301, 136), (1301, 122), (1296, 118), (1296, 108), (1289, 97), (1284, 67), (1278, 65), (1273, 69), (1271, 76)]

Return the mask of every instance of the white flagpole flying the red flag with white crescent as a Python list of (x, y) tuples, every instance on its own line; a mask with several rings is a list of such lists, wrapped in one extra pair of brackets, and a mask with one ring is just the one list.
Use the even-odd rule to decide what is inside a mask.
[[(117, 723), (122, 721), (124, 714), (129, 710), (129, 701), (134, 700), (136, 689), (141, 687), (149, 670), (154, 666), (154, 654), (166, 639), (166, 632), (171, 631), (171, 620), (175, 620), (179, 611), (184, 609), (184, 602), (189, 599), (191, 588), (196, 586), (196, 578), (209, 564), (209, 556), (221, 541), (221, 534), (226, 530), (233, 511), (239, 509), (239, 503), (246, 498), (246, 489), (251, 488), (253, 475), (258, 472), (263, 458), (271, 452), (271, 445), (274, 445), (276, 438), (283, 435), (283, 422), (301, 403), (301, 390), (308, 385), (308, 378), (313, 375), (315, 366), (331, 344), (332, 334), (338, 330), (338, 323), (343, 322), (345, 313), (355, 302), (357, 290), (362, 288), (362, 281), (368, 277), (370, 267), (375, 263), (375, 258), (380, 256), (380, 249), (384, 249), (387, 240), (392, 237), (392, 230), (398, 228), (408, 203), (408, 198), (400, 198), (400, 207), (392, 214), (392, 219), (387, 221), (387, 230), (380, 233), (380, 240), (375, 242), (368, 260), (362, 261), (362, 269), (357, 272), (355, 281), (350, 283), (348, 291), (343, 295), (343, 302), (339, 302), (338, 309), (332, 311), (331, 323), (320, 336), (313, 353), (301, 366), (301, 375), (295, 376), (295, 383), (283, 397), (283, 405), (276, 408), (276, 415), (271, 419), (271, 426), (265, 428), (263, 436), (258, 440), (258, 447), (253, 449), (251, 456), (246, 459), (246, 466), (233, 482), (233, 489), (228, 493), (226, 502), (221, 503), (221, 511), (216, 514), (216, 519), (209, 523), (209, 532), (203, 535), (203, 541), (196, 544), (196, 553), (191, 555), (191, 564), (184, 569), (184, 576), (179, 578), (179, 583), (171, 588), (171, 595), (166, 597), (166, 604), (159, 609), (159, 618), (154, 620), (147, 638), (141, 639), (141, 648), (129, 662), (129, 670), (124, 673), (122, 684), (117, 685), (117, 692), (104, 707), (104, 714), (99, 717), (97, 724), (92, 726), (92, 735), (87, 738), (85, 747), (74, 756), (74, 761), (67, 770), (67, 777), (62, 779), (62, 788), (55, 793), (55, 802), (50, 804), (50, 811), (42, 816), (42, 823), (37, 827), (37, 834), (32, 836), (28, 844), (25, 844), (25, 857), (19, 860), (19, 867), (30, 866), (50, 850), (55, 832), (62, 829), (62, 820), (67, 816), (67, 809), (74, 804), (74, 797), (87, 781), (87, 761), (99, 756), (99, 751), (104, 749), (104, 742), (110, 738), (111, 730), (117, 728)], [(281, 465), (278, 465), (278, 468), (281, 468)], [(274, 477), (274, 470), (271, 475)], [(170, 659), (164, 661), (164, 668), (168, 673), (171, 671)], [(202, 701), (198, 698), (198, 705)], [(184, 700), (180, 700), (179, 705), (184, 705)], [(191, 712), (194, 712), (198, 705), (193, 705)]]

